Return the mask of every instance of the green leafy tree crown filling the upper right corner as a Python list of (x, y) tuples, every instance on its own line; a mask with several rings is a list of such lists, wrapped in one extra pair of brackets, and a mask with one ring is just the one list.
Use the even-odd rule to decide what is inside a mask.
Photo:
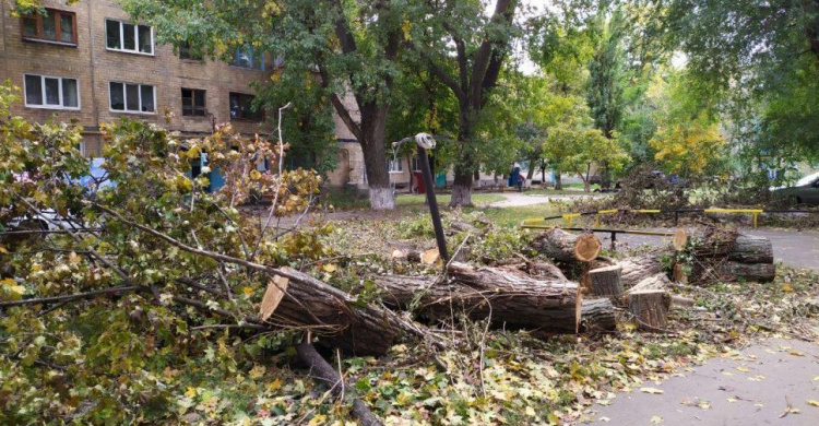
[(651, 36), (686, 54), (703, 99), (731, 114), (741, 151), (819, 162), (819, 0), (653, 4)]

